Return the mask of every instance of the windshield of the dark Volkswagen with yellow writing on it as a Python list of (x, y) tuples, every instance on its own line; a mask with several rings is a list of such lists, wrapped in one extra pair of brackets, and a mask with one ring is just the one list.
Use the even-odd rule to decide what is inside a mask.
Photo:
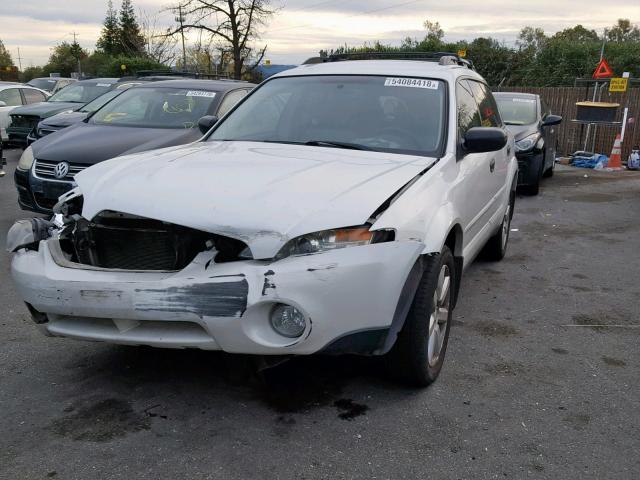
[(211, 112), (215, 92), (186, 88), (132, 88), (98, 110), (89, 123), (147, 128), (195, 128)]

